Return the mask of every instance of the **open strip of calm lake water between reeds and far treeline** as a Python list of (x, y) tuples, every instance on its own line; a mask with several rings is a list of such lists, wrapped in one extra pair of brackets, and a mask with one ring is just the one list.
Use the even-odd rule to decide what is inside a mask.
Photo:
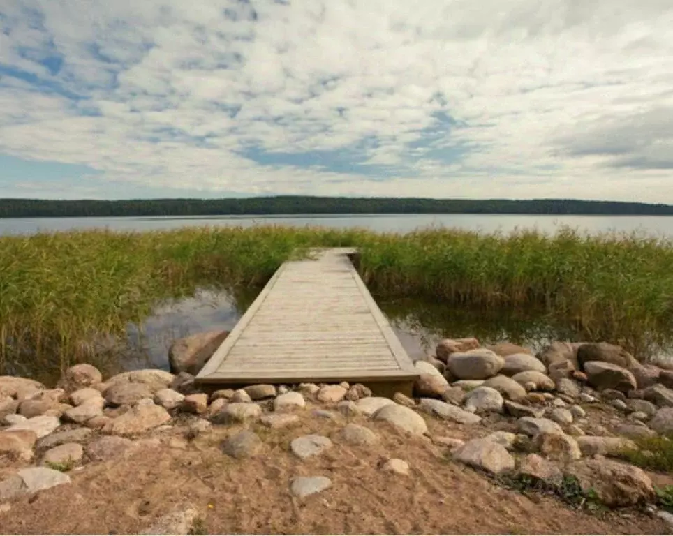
[(291, 225), (328, 228), (367, 228), (378, 232), (408, 232), (418, 228), (446, 227), (481, 232), (510, 232), (537, 228), (554, 233), (562, 225), (583, 232), (642, 232), (673, 237), (673, 216), (528, 216), (493, 214), (339, 214), (324, 216), (212, 216), (158, 218), (3, 218), (3, 234), (33, 234), (38, 231), (110, 229), (119, 231), (168, 230), (213, 225), (251, 227), (253, 225)]

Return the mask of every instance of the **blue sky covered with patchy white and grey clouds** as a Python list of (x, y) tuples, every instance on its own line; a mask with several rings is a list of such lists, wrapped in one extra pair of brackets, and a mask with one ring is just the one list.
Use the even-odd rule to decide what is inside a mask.
[(2, 0), (0, 198), (673, 204), (671, 0)]

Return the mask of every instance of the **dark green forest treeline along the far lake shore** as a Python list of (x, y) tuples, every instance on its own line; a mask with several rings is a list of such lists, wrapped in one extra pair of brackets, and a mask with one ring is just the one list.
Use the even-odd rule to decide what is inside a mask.
[(1, 199), (0, 218), (225, 216), (265, 214), (608, 214), (673, 216), (673, 205), (567, 199), (264, 198), (38, 200)]

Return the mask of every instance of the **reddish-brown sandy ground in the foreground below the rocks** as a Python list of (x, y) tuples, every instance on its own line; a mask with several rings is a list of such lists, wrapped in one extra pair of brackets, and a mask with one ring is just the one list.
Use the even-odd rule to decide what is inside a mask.
[[(337, 444), (342, 424), (311, 417), (302, 426), (251, 428), (262, 454), (235, 460), (219, 448), (232, 427), (187, 442), (177, 429), (141, 440), (123, 458), (88, 463), (72, 484), (0, 508), (5, 534), (129, 534), (151, 526), (181, 505), (200, 512), (198, 532), (209, 534), (665, 534), (660, 519), (637, 510), (600, 516), (555, 498), (527, 497), (498, 487), (448, 461), (445, 449), (389, 426), (352, 419), (380, 435), (373, 447)], [(460, 437), (459, 425), (431, 422), (439, 435)], [(335, 445), (308, 461), (289, 450), (304, 433), (331, 436)], [(408, 461), (408, 476), (383, 472), (381, 461)], [(324, 475), (331, 489), (305, 500), (290, 495), (295, 476)]]

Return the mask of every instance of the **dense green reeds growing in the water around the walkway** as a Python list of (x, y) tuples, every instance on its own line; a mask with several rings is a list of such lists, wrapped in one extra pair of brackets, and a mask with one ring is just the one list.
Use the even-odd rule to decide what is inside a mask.
[[(0, 371), (6, 359), (87, 359), (96, 334), (123, 336), (162, 299), (200, 287), (257, 288), (294, 251), (357, 246), (380, 297), (465, 308), (542, 308), (579, 338), (644, 358), (673, 324), (673, 244), (638, 235), (419, 230), (188, 228), (0, 238)], [(468, 334), (454, 334), (463, 336)]]

